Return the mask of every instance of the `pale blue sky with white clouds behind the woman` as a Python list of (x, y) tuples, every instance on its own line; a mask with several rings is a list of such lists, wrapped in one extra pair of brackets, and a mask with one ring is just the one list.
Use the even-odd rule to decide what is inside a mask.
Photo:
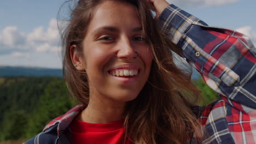
[[(64, 0), (2, 0), (0, 65), (61, 68), (57, 13)], [(231, 28), (256, 45), (255, 0), (168, 0), (209, 26)]]

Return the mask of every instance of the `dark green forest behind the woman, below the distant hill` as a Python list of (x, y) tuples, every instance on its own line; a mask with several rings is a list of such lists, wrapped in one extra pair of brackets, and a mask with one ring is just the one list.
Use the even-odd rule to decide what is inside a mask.
[[(202, 79), (194, 83), (202, 91), (203, 104), (218, 99)], [(0, 143), (28, 140), (78, 104), (60, 77), (0, 77), (0, 101)]]

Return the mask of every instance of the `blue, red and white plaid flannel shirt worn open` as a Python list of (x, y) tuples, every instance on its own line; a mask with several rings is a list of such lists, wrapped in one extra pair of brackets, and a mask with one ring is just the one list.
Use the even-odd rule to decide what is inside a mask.
[[(200, 117), (202, 143), (256, 143), (256, 49), (246, 35), (209, 27), (169, 5), (158, 19), (162, 32), (220, 95)], [(78, 105), (55, 118), (26, 143), (69, 143), (68, 125), (84, 109)], [(188, 143), (199, 143), (193, 136)]]

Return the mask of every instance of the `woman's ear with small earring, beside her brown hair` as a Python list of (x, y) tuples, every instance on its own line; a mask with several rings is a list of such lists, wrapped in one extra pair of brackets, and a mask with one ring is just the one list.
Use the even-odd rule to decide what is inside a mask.
[(77, 45), (72, 45), (69, 49), (69, 52), (74, 67), (79, 71), (85, 70), (83, 67), (82, 57), (79, 56), (79, 52), (77, 50)]

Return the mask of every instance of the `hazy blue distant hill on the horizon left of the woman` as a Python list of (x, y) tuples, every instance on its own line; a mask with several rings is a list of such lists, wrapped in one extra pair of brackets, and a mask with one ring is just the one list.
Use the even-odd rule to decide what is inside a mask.
[(36, 67), (9, 67), (0, 66), (0, 76), (57, 76), (62, 77), (61, 69)]

